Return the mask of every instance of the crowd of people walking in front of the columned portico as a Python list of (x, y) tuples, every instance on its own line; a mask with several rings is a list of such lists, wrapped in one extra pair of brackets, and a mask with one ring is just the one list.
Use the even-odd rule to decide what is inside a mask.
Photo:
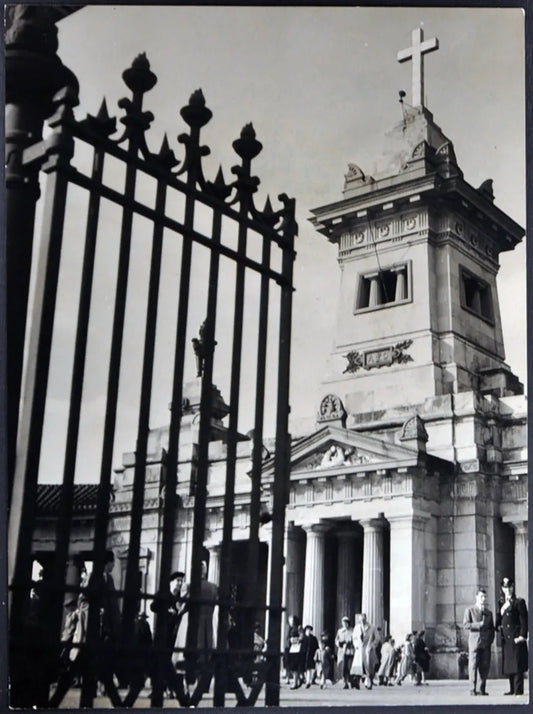
[(309, 688), (318, 684), (342, 681), (344, 689), (360, 689), (363, 684), (372, 689), (374, 684), (400, 684), (411, 677), (416, 684), (425, 683), (429, 671), (429, 651), (424, 632), (409, 633), (402, 646), (381, 628), (369, 622), (365, 613), (356, 616), (354, 627), (348, 617), (331, 641), (329, 632), (317, 638), (311, 625), (302, 627), (299, 618), (288, 620), (284, 651), (284, 676), (291, 689)]

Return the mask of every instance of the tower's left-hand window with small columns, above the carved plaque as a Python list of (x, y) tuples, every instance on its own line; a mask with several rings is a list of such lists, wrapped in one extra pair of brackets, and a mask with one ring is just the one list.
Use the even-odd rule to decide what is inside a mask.
[(357, 278), (355, 312), (391, 307), (410, 300), (410, 263), (362, 273)]

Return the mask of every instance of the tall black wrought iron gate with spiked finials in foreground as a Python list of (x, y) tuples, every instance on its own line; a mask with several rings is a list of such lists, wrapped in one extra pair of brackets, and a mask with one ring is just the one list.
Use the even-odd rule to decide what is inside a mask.
[[(238, 705), (254, 704), (265, 686), (265, 703), (279, 703), (280, 631), (282, 600), (282, 553), (284, 540), (285, 504), (288, 494), (288, 390), (289, 353), (291, 331), (292, 271), (294, 261), (295, 204), (282, 194), (280, 208), (274, 209), (267, 199), (262, 210), (254, 204), (254, 193), (259, 179), (251, 172), (251, 162), (261, 151), (252, 125), (242, 130), (233, 147), (240, 159), (232, 171), (235, 178), (226, 182), (220, 169), (215, 180), (209, 181), (204, 175), (203, 157), (209, 149), (200, 140), (201, 129), (211, 119), (211, 111), (206, 106), (201, 91), (192, 94), (187, 106), (181, 110), (188, 131), (180, 134), (179, 142), (184, 147), (184, 159), (176, 160), (166, 137), (158, 153), (149, 149), (148, 130), (153, 115), (144, 107), (145, 94), (156, 84), (156, 76), (150, 70), (145, 56), (140, 55), (123, 74), (123, 79), (131, 91), (131, 98), (122, 99), (119, 107), (123, 110), (120, 122), (122, 133), (116, 134), (116, 119), (109, 116), (105, 102), (96, 116), (76, 119), (73, 108), (77, 104), (76, 91), (65, 87), (56, 93), (54, 113), (48, 120), (51, 128), (49, 136), (25, 147), (22, 166), (27, 171), (46, 174), (46, 189), (43, 197), (41, 240), (33, 306), (31, 330), (27, 345), (25, 388), (22, 395), (20, 423), (18, 425), (17, 458), (12, 480), (12, 494), (9, 523), (9, 568), (10, 568), (10, 676), (11, 703), (14, 706), (36, 705), (56, 706), (62, 694), (50, 698), (50, 683), (54, 673), (48, 669), (59, 655), (61, 648), (61, 623), (65, 593), (74, 597), (81, 594), (88, 604), (87, 632), (78, 645), (81, 670), (80, 706), (92, 706), (97, 680), (104, 681), (106, 694), (114, 706), (132, 704), (136, 693), (124, 699), (113, 682), (106, 677), (106, 663), (122, 661), (126, 669), (135, 666), (135, 657), (140, 654), (139, 645), (132, 633), (139, 609), (139, 602), (152, 602), (153, 592), (144, 592), (138, 580), (140, 537), (143, 517), (143, 500), (146, 486), (147, 444), (150, 433), (149, 419), (154, 374), (154, 353), (157, 347), (158, 309), (160, 301), (160, 279), (164, 244), (179, 242), (181, 265), (176, 275), (177, 320), (175, 323), (175, 350), (173, 357), (172, 393), (168, 443), (165, 445), (165, 488), (162, 509), (162, 532), (159, 562), (159, 591), (168, 590), (172, 570), (172, 552), (175, 527), (179, 521), (178, 498), (178, 448), (180, 444), (180, 424), (183, 416), (184, 364), (190, 330), (190, 302), (198, 295), (199, 287), (191, 286), (191, 264), (195, 251), (203, 253), (209, 263), (208, 280), (204, 286), (207, 305), (206, 320), (202, 326), (201, 339), (196, 344), (201, 373), (201, 405), (199, 438), (197, 444), (197, 471), (194, 491), (194, 525), (192, 542), (192, 567), (187, 573), (190, 581), (189, 637), (186, 648), (187, 671), (183, 674), (191, 685), (188, 694), (181, 693), (180, 703), (197, 704), (214, 679), (214, 699), (216, 706), (225, 704), (226, 695), (232, 692)], [(79, 147), (92, 152), (92, 167), (83, 171), (76, 168), (73, 157)], [(111, 186), (105, 180), (106, 165), (110, 160), (124, 166), (123, 189)], [(155, 183), (155, 201), (150, 205), (137, 191), (140, 176), (150, 177)], [(69, 203), (72, 187), (86, 192), (87, 220), (81, 219), (75, 234), (65, 231), (65, 210)], [(181, 197), (183, 211), (177, 211), (172, 201)], [(117, 272), (114, 284), (116, 291), (113, 303), (113, 317), (107, 365), (107, 390), (105, 399), (105, 424), (102, 433), (99, 457), (99, 482), (97, 490), (96, 515), (94, 519), (93, 571), (90, 580), (81, 586), (67, 585), (66, 566), (69, 558), (72, 532), (72, 510), (75, 491), (75, 474), (80, 437), (80, 415), (83, 408), (84, 380), (87, 378), (87, 345), (90, 333), (91, 309), (95, 300), (95, 255), (102, 228), (101, 209), (103, 202), (113, 204), (120, 210), (119, 248)], [(198, 221), (200, 207), (209, 212), (211, 224), (205, 228)], [(135, 470), (133, 480), (133, 500), (129, 523), (129, 549), (126, 576), (123, 589), (105, 593), (105, 563), (108, 552), (109, 505), (112, 497), (111, 475), (113, 470), (113, 449), (116, 438), (117, 402), (121, 369), (128, 355), (123, 351), (123, 334), (126, 301), (134, 287), (130, 280), (132, 224), (136, 217), (142, 217), (151, 225), (151, 236), (146, 240), (151, 244), (150, 269), (145, 305), (144, 344), (142, 357), (142, 379), (139, 409), (137, 414), (137, 434), (135, 447)], [(229, 222), (236, 226), (236, 245), (223, 239), (224, 225)], [(145, 222), (145, 225), (146, 222)], [(76, 335), (72, 360), (70, 400), (64, 460), (62, 455), (62, 487), (59, 516), (55, 525), (55, 552), (52, 577), (45, 583), (32, 581), (32, 538), (36, 518), (36, 498), (40, 474), (40, 455), (47, 403), (48, 375), (52, 360), (52, 337), (58, 276), (62, 253), (70, 241), (82, 240), (84, 234), (83, 262), (78, 287)], [(260, 244), (260, 258), (248, 250), (251, 242)], [(272, 258), (273, 250), (280, 256), (277, 266)], [(199, 627), (201, 598), (201, 561), (206, 527), (207, 485), (209, 469), (209, 441), (212, 425), (212, 385), (213, 369), (216, 364), (215, 337), (217, 315), (220, 315), (218, 282), (221, 259), (229, 261), (234, 271), (233, 304), (231, 312), (231, 379), (229, 427), (227, 431), (226, 480), (223, 496), (223, 538), (220, 554), (220, 583), (218, 591), (218, 633), (217, 645), (208, 656), (199, 657), (196, 632)], [(253, 623), (254, 613), (268, 614), (267, 645), (262, 661), (254, 667), (253, 681), (249, 687), (243, 685), (242, 671), (235, 663), (253, 659), (253, 628), (246, 634), (246, 646), (239, 651), (239, 657), (232, 651), (228, 639), (231, 598), (231, 558), (234, 525), (234, 495), (237, 462), (237, 442), (239, 439), (239, 400), (242, 369), (250, 358), (244, 353), (243, 321), (244, 305), (247, 297), (245, 284), (247, 277), (257, 276), (259, 301), (257, 313), (257, 342), (255, 359), (255, 414), (253, 429), (252, 469), (249, 493), (249, 551), (247, 569), (250, 587), (244, 602), (244, 620)], [(272, 314), (272, 294), (276, 291), (276, 305), (279, 314)], [(141, 316), (139, 316), (141, 319)], [(272, 496), (272, 538), (270, 542), (269, 600), (257, 600), (256, 577), (259, 563), (259, 525), (261, 517), (261, 471), (262, 445), (264, 437), (265, 384), (267, 380), (267, 335), (271, 335), (273, 322), (277, 322), (277, 407), (275, 441), (275, 479), (271, 488)], [(269, 328), (270, 326), (270, 328)], [(168, 329), (168, 327), (167, 327)], [(269, 332), (270, 330), (270, 332)], [(190, 332), (189, 332), (190, 334)], [(270, 339), (270, 337), (269, 337)], [(67, 370), (68, 372), (68, 370)], [(96, 447), (95, 447), (96, 448)], [(32, 630), (32, 597), (38, 588), (41, 605), (45, 605), (46, 622), (40, 623), (38, 641)], [(102, 598), (121, 598), (121, 635), (115, 641), (102, 637)], [(204, 603), (205, 604), (205, 603)], [(152, 706), (163, 704), (165, 681), (161, 674), (164, 659), (168, 655), (165, 638), (168, 632), (168, 616), (160, 612), (156, 616), (154, 645), (150, 650), (156, 667), (153, 670)], [(74, 648), (76, 649), (76, 648)], [(205, 652), (203, 653), (205, 655)], [(71, 655), (72, 658), (76, 658)], [(31, 686), (27, 678), (28, 659), (32, 658)], [(110, 659), (111, 658), (111, 659)], [(36, 666), (37, 665), (37, 666)], [(41, 667), (41, 675), (35, 681), (35, 672)], [(41, 686), (42, 685), (42, 686)], [(128, 696), (128, 695), (126, 695)]]

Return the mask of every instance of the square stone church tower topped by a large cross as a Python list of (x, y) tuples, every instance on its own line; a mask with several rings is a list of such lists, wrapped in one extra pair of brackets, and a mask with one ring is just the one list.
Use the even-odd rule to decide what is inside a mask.
[(398, 54), (412, 60), (412, 104), (400, 92), (403, 119), (386, 137), (380, 172), (349, 164), (342, 200), (312, 211), (339, 247), (324, 386), (348, 414), (470, 390), (522, 392), (505, 363), (496, 276), (499, 254), (523, 230), (495, 205), (490, 179), (467, 183), (424, 105), (424, 55), (436, 49), (418, 28)]

